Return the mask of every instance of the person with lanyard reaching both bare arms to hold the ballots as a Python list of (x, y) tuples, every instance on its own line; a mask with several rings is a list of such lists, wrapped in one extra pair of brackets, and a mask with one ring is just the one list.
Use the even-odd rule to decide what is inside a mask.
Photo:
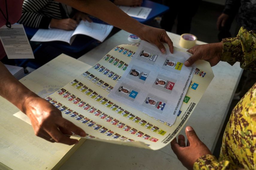
[[(125, 31), (135, 34), (140, 39), (155, 44), (158, 49), (165, 53), (166, 49), (162, 42), (168, 44), (169, 51), (173, 53), (173, 43), (165, 30), (149, 27), (131, 18), (109, 0), (58, 0), (60, 3), (74, 7), (75, 9), (95, 16), (102, 21)], [(7, 4), (6, 4), (7, 2)], [(3, 14), (8, 9), (9, 22), (16, 23), (22, 14), (23, 0), (8, 0), (0, 3)], [(126, 22), (120, 22), (126, 21)], [(0, 27), (7, 23), (0, 13)], [(5, 56), (4, 48), (0, 43), (0, 60)], [(35, 135), (50, 142), (75, 144), (78, 140), (70, 139), (64, 135), (80, 135), (86, 133), (70, 121), (62, 118), (60, 110), (34, 92), (29, 90), (11, 75), (7, 68), (0, 62), (0, 95), (10, 101), (31, 121)]]

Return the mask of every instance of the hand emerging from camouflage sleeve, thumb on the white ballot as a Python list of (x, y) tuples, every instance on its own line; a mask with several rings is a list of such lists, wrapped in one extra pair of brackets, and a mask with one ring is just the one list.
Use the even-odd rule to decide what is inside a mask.
[(185, 66), (191, 66), (197, 60), (208, 61), (211, 67), (219, 63), (222, 56), (222, 42), (196, 45), (187, 52), (193, 54), (187, 61), (184, 62)]

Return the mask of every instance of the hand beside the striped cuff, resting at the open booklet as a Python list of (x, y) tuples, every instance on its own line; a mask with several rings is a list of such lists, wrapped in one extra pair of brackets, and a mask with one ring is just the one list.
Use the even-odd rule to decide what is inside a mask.
[(51, 28), (58, 28), (62, 30), (75, 30), (76, 28), (76, 21), (72, 18), (67, 19), (51, 19), (50, 27)]

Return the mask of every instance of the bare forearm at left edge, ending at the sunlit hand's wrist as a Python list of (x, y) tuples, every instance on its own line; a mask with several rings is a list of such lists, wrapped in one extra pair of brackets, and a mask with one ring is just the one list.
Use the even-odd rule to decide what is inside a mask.
[(21, 84), (0, 62), (0, 95), (25, 112), (25, 101), (31, 96), (37, 96)]

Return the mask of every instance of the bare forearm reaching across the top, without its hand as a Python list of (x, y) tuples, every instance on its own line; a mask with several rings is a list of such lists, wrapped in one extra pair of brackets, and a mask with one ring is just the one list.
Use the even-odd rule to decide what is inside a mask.
[[(110, 25), (139, 36), (143, 24), (131, 18), (109, 0), (57, 0), (79, 11), (95, 16)], [(122, 21), (122, 22), (121, 22)]]

